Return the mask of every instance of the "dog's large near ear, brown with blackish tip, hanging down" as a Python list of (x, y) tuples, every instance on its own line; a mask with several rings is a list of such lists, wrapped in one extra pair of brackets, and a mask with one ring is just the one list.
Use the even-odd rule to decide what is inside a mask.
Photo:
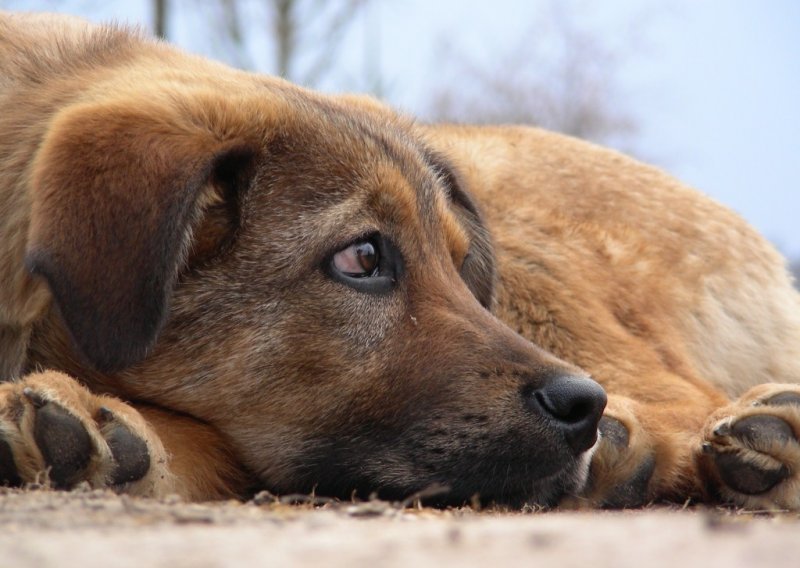
[(200, 122), (141, 105), (74, 106), (37, 153), (25, 263), (99, 370), (155, 343), (202, 194), (252, 162), (245, 142)]

